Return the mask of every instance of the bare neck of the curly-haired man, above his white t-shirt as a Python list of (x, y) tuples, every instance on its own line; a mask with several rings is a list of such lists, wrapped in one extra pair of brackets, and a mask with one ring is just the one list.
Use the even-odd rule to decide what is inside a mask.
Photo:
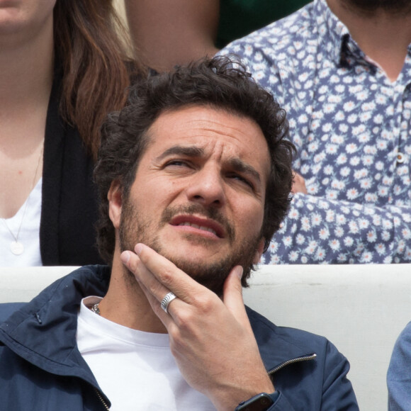
[(166, 333), (166, 328), (155, 315), (133, 274), (125, 269), (120, 260), (120, 254), (120, 248), (116, 242), (110, 285), (105, 297), (98, 305), (100, 315), (133, 330)]

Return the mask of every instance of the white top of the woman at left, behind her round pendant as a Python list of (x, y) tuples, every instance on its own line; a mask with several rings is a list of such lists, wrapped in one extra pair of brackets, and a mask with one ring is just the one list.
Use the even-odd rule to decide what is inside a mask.
[(0, 221), (0, 266), (43, 266), (40, 255), (42, 186), (43, 179), (40, 178), (20, 210), (12, 218), (6, 218), (6, 225), (13, 232), (13, 235), (17, 235), (20, 227), (18, 242), (21, 242), (24, 247), (20, 255), (11, 252), (10, 245), (14, 241), (13, 235), (7, 229), (4, 221)]

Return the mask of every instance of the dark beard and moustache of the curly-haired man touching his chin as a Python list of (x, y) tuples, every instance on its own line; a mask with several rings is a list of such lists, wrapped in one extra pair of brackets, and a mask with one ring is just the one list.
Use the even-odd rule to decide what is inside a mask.
[[(232, 252), (220, 261), (211, 263), (204, 261), (201, 265), (198, 264), (198, 262), (190, 261), (189, 256), (186, 259), (177, 259), (172, 255), (168, 255), (159, 240), (157, 231), (164, 227), (164, 225), (167, 225), (171, 218), (177, 214), (203, 215), (223, 225), (227, 240), (232, 246)], [(242, 240), (240, 244), (236, 244), (235, 230), (227, 219), (220, 215), (219, 211), (215, 208), (208, 209), (199, 204), (181, 205), (174, 208), (168, 207), (162, 213), (162, 218), (157, 227), (154, 227), (154, 225), (150, 223), (147, 218), (142, 218), (142, 216), (139, 215), (127, 199), (123, 203), (120, 219), (119, 235), (121, 251), (133, 250), (137, 242), (145, 244), (163, 257), (166, 257), (198, 283), (214, 291), (219, 296), (223, 295), (223, 285), (231, 269), (236, 265), (240, 265), (244, 269), (242, 285), (247, 286), (247, 278), (249, 278), (253, 268), (253, 261), (256, 257), (258, 244), (261, 239), (260, 233), (254, 235), (254, 237)], [(184, 234), (181, 235), (184, 236)], [(204, 244), (205, 247), (209, 241), (195, 234), (185, 234), (185, 237), (186, 239), (181, 241), (190, 241), (192, 244)], [(130, 275), (129, 272), (128, 275)]]

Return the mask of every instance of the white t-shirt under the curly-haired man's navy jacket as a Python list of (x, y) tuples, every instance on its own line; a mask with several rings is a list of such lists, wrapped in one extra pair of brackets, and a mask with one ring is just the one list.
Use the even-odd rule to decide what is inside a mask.
[(186, 383), (171, 354), (168, 334), (132, 330), (93, 313), (81, 301), (77, 346), (112, 411), (215, 411), (205, 395)]

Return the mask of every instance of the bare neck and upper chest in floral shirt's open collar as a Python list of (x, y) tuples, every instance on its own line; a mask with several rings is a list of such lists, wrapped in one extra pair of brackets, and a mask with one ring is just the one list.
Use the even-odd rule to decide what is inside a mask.
[(361, 50), (395, 81), (411, 43), (411, 13), (394, 14), (379, 9), (366, 14), (344, 0), (327, 0), (327, 4)]

